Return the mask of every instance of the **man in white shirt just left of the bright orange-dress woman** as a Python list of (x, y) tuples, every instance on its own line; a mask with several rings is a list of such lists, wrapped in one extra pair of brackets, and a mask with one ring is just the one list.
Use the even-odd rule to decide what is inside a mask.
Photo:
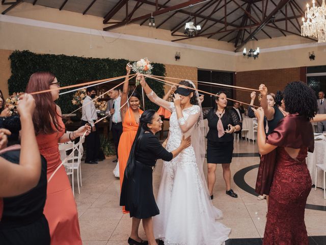
[(122, 134), (122, 119), (120, 114), (121, 97), (120, 97), (119, 88), (113, 89), (108, 93), (108, 95), (110, 96), (111, 99), (113, 99), (112, 109), (110, 110), (111, 113), (110, 124), (112, 124), (111, 132), (112, 132), (113, 142), (115, 144), (116, 155), (117, 155), (117, 159), (114, 160), (113, 162), (117, 162), (118, 145), (119, 145), (120, 136)]

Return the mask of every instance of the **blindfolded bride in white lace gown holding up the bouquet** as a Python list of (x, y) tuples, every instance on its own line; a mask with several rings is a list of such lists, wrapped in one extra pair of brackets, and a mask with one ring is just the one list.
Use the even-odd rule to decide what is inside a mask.
[(215, 220), (222, 218), (222, 212), (212, 205), (206, 186), (203, 114), (194, 83), (181, 81), (172, 103), (160, 99), (144, 76), (137, 79), (150, 101), (172, 112), (166, 149), (178, 148), (182, 135), (192, 136), (191, 146), (163, 162), (157, 195), (160, 214), (153, 217), (155, 238), (166, 245), (224, 244), (231, 229)]

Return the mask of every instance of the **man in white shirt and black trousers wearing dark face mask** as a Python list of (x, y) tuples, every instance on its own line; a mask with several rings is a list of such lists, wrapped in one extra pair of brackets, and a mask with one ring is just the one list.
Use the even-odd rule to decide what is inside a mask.
[(96, 96), (94, 87), (86, 89), (87, 96), (83, 102), (82, 124), (90, 124), (92, 132), (86, 136), (86, 159), (85, 163), (97, 164), (98, 153), (100, 150), (100, 136), (94, 122), (97, 120), (96, 108), (92, 100)]

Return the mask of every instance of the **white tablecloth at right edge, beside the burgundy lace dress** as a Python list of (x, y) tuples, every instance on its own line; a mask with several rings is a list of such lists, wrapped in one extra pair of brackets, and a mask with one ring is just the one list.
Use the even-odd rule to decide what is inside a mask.
[[(308, 152), (307, 167), (310, 172), (312, 184), (315, 184), (315, 165), (316, 163), (322, 163), (325, 157), (326, 141), (325, 140), (315, 140), (315, 150), (314, 153)], [(317, 170), (317, 187), (322, 187), (322, 170)]]

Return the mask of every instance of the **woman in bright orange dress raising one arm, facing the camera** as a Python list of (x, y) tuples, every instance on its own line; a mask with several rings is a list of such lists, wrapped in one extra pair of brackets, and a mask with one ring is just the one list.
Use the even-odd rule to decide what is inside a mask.
[[(126, 66), (127, 75), (130, 75), (131, 68)], [(119, 156), (119, 174), (120, 174), (120, 190), (123, 182), (124, 170), (127, 165), (129, 158), (129, 153), (134, 138), (136, 137), (139, 118), (141, 117), (143, 111), (139, 109), (141, 103), (141, 95), (137, 91), (130, 91), (128, 93), (128, 77), (126, 77), (123, 84), (122, 94), (121, 94), (121, 118), (122, 118), (122, 134), (119, 140), (118, 146), (118, 156)], [(127, 100), (129, 101), (127, 103)], [(128, 213), (124, 206), (122, 207), (123, 213)]]

